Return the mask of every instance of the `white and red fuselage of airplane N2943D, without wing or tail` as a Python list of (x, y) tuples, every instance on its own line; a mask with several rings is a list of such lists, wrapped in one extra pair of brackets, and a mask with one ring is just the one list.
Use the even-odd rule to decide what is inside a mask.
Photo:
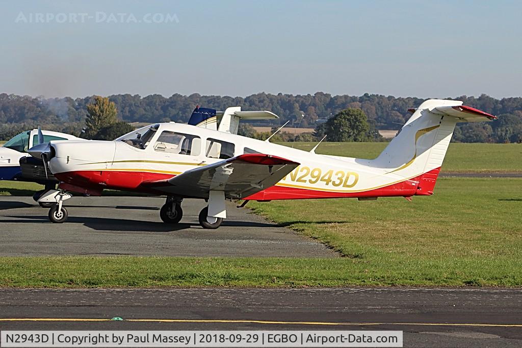
[[(164, 142), (159, 141), (163, 132), (190, 135), (197, 141), (193, 140), (189, 153), (175, 153), (179, 152), (177, 148), (169, 151)], [(209, 149), (209, 141), (221, 142), (220, 148), (227, 148), (226, 153)], [(101, 192), (102, 189), (161, 193), (161, 189), (150, 189), (147, 184), (243, 153), (264, 153), (300, 163), (275, 186), (250, 197), (242, 197), (245, 199), (409, 197), (431, 194), (418, 190), (426, 172), (390, 172), (372, 166), (374, 164), (371, 160), (315, 154), (185, 124), (157, 125), (155, 134), (148, 139), (145, 148), (124, 140), (61, 141), (53, 142), (52, 146), (55, 154), (50, 160), (50, 168), (54, 175), (65, 183), (67, 189), (81, 188), (91, 194)], [(436, 178), (438, 167), (428, 172), (431, 173), (428, 175)], [(191, 197), (186, 194), (183, 196)], [(206, 198), (197, 195), (192, 197)]]

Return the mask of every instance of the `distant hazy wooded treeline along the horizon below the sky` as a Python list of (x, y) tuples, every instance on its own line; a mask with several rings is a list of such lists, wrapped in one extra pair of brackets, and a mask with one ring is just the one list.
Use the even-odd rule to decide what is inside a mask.
[[(243, 110), (270, 110), (279, 120), (268, 124), (277, 126), (291, 121), (294, 126), (315, 128), (321, 121), (347, 108), (360, 109), (377, 129), (399, 129), (410, 117), (409, 107), (419, 106), (423, 99), (395, 98), (377, 94), (330, 95), (317, 92), (307, 95), (257, 93), (248, 97), (218, 95), (173, 94), (165, 98), (159, 94), (140, 97), (131, 94), (109, 96), (117, 107), (118, 118), (125, 122), (187, 122), (196, 105), (224, 110), (228, 106), (242, 106)], [(495, 99), (461, 96), (466, 105), (499, 115), (493, 123), (469, 124), (456, 130), (456, 141), (519, 142), (522, 140), (522, 98)], [(53, 125), (56, 130), (79, 131), (87, 114), (86, 105), (93, 97), (45, 99), (14, 94), (0, 94), (0, 138), (10, 138), (20, 127)], [(302, 117), (304, 115), (304, 117)], [(319, 120), (319, 122), (318, 122)], [(267, 123), (258, 122), (258, 124)], [(8, 134), (9, 133), (9, 134)], [(14, 135), (14, 134), (13, 134)]]

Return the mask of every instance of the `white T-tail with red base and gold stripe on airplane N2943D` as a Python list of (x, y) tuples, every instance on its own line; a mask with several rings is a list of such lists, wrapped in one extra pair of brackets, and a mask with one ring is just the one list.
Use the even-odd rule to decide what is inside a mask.
[(432, 195), (458, 122), (493, 121), (495, 116), (461, 101), (430, 99), (417, 109), (371, 166), (419, 180), (416, 195)]

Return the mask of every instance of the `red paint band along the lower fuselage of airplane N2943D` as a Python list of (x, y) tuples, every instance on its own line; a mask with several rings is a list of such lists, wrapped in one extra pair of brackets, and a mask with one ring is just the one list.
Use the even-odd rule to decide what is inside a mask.
[[(432, 195), (440, 168), (400, 183), (361, 192), (330, 192), (298, 187), (272, 186), (245, 197), (251, 200), (343, 198), (343, 197), (409, 197)], [(166, 182), (174, 174), (126, 171), (75, 171), (54, 175), (60, 181), (85, 188), (108, 188), (124, 191), (158, 193), (153, 186)], [(160, 182), (160, 183), (156, 183)], [(151, 187), (149, 187), (151, 186)]]

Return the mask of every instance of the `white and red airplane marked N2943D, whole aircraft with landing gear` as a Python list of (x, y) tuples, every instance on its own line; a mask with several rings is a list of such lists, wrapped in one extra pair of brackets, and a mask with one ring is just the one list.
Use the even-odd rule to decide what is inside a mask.
[[(374, 160), (316, 154), (237, 135), (241, 118), (277, 118), (267, 111), (229, 107), (221, 113), (196, 109), (191, 124), (159, 123), (114, 141), (51, 141), (29, 150), (49, 162), (61, 180), (42, 195), (56, 202), (52, 222), (64, 222), (66, 191), (100, 195), (105, 188), (167, 196), (164, 222), (181, 220), (184, 198), (208, 206), (201, 226), (216, 229), (226, 218), (227, 199), (429, 196), (457, 122), (496, 117), (453, 100), (427, 100)], [(218, 113), (219, 115), (219, 113)], [(199, 118), (199, 119), (198, 119)], [(194, 122), (194, 120), (196, 121)]]

